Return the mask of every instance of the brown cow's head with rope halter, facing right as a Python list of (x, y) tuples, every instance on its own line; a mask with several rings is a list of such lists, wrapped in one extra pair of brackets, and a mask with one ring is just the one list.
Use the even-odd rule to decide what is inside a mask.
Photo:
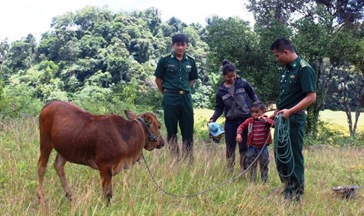
[(157, 119), (157, 117), (151, 113), (146, 112), (141, 115), (135, 115), (133, 112), (129, 110), (125, 110), (126, 118), (129, 120), (139, 119), (137, 121), (141, 121), (148, 132), (148, 142), (144, 145), (144, 149), (151, 151), (152, 149), (160, 149), (164, 146), (164, 139), (161, 136), (161, 122)]

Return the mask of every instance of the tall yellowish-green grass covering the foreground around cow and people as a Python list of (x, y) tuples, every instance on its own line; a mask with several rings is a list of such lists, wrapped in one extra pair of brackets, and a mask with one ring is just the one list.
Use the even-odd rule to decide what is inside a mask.
[[(171, 165), (167, 146), (144, 151), (146, 162), (141, 160), (113, 178), (109, 206), (102, 197), (98, 171), (71, 163), (66, 165), (74, 197), (69, 202), (52, 165), (53, 152), (45, 174), (43, 209), (36, 196), (38, 139), (36, 119), (1, 125), (0, 215), (364, 215), (364, 147), (306, 147), (306, 193), (299, 204), (282, 204), (273, 146), (269, 182), (262, 184), (259, 176), (258, 182), (236, 178), (239, 167), (229, 173), (223, 143), (206, 139), (196, 140), (191, 164), (181, 160)], [(352, 184), (361, 187), (354, 199), (343, 200), (332, 191)]]

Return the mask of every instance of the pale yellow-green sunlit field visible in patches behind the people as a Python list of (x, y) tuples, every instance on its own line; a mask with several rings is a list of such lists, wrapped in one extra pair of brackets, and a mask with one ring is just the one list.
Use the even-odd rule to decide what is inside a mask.
[[(201, 121), (206, 119), (206, 121), (212, 116), (214, 110), (207, 110), (207, 109), (194, 109), (195, 119)], [(266, 112), (266, 115), (271, 115), (273, 111)], [(336, 128), (337, 130), (348, 131), (348, 120), (346, 117), (345, 112), (342, 111), (332, 111), (332, 110), (323, 110), (320, 112), (320, 119), (321, 121), (325, 121), (330, 123), (332, 127)], [(355, 113), (352, 112), (352, 121), (355, 121)], [(361, 113), (358, 122), (358, 132), (364, 131), (364, 113)]]

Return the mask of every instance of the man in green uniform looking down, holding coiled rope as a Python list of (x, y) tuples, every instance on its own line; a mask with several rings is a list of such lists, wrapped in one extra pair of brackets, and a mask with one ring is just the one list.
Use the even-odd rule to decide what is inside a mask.
[[(306, 126), (306, 112), (304, 109), (316, 101), (316, 74), (310, 64), (297, 56), (295, 49), (286, 38), (277, 38), (271, 45), (271, 51), (278, 62), (284, 64), (280, 78), (280, 95), (277, 110), (271, 119), (282, 114), (282, 119), (289, 119), (289, 138), (291, 146), (279, 141), (277, 133), (274, 139), (275, 161), (281, 181), (285, 184), (284, 202), (299, 201), (304, 193), (304, 127)], [(275, 132), (277, 132), (277, 126)], [(291, 148), (291, 149), (290, 149)], [(288, 152), (293, 157), (277, 158)]]

